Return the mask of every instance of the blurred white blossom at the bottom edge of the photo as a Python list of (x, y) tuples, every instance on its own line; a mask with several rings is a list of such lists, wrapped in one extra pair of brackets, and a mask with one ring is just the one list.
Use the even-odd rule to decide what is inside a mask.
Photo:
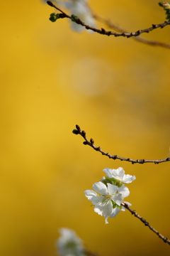
[(57, 240), (58, 254), (62, 256), (85, 256), (84, 246), (74, 230), (60, 228), (60, 238)]

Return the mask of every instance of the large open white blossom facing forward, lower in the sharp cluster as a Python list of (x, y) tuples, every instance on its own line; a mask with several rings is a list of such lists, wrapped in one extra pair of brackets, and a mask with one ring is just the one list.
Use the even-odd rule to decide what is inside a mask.
[(106, 186), (101, 181), (94, 183), (93, 188), (94, 191), (84, 191), (85, 196), (93, 203), (94, 211), (105, 217), (107, 224), (109, 216), (112, 218), (118, 214), (123, 198), (129, 196), (130, 191), (125, 186), (118, 188), (110, 183)]

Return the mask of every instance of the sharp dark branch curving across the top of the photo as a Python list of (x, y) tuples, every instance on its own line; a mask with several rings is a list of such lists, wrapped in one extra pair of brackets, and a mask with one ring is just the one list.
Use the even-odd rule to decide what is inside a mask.
[(157, 24), (157, 25), (156, 24), (152, 24), (151, 28), (146, 28), (146, 29), (138, 30), (136, 32), (116, 33), (116, 32), (113, 32), (113, 31), (106, 31), (104, 28), (97, 29), (97, 28), (94, 28), (92, 26), (86, 25), (86, 23), (82, 22), (77, 16), (74, 16), (73, 14), (72, 14), (72, 16), (69, 16), (68, 14), (65, 14), (64, 11), (62, 11), (57, 6), (55, 6), (55, 4), (52, 4), (51, 1), (47, 1), (47, 4), (52, 6), (52, 7), (54, 7), (55, 9), (57, 9), (58, 11), (60, 11), (62, 13), (62, 16), (61, 17), (58, 16), (57, 18), (70, 18), (75, 23), (77, 23), (77, 24), (79, 24), (81, 26), (84, 26), (86, 29), (89, 29), (89, 30), (94, 31), (96, 33), (100, 33), (100, 34), (105, 35), (105, 36), (115, 36), (115, 37), (123, 36), (123, 37), (130, 38), (132, 36), (140, 36), (140, 34), (142, 34), (142, 33), (149, 33), (150, 31), (152, 31), (152, 30), (154, 30), (156, 28), (164, 28), (165, 26), (170, 25), (170, 20), (169, 20), (169, 21), (164, 21), (164, 23)]

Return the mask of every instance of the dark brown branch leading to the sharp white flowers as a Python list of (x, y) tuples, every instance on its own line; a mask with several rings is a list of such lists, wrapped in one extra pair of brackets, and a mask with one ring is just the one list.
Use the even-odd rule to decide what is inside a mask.
[(130, 211), (130, 213), (132, 213), (132, 215), (134, 215), (136, 218), (138, 218), (140, 221), (142, 221), (142, 223), (145, 224), (145, 226), (147, 226), (150, 230), (152, 230), (156, 235), (158, 235), (159, 238), (161, 238), (164, 242), (167, 242), (170, 245), (170, 240), (168, 238), (165, 238), (164, 235), (160, 234), (157, 230), (155, 230), (148, 222), (147, 220), (145, 220), (144, 218), (142, 218), (139, 214), (137, 214), (137, 212), (135, 210), (132, 210), (127, 203), (121, 203), (121, 205), (123, 207), (125, 207), (127, 210)]

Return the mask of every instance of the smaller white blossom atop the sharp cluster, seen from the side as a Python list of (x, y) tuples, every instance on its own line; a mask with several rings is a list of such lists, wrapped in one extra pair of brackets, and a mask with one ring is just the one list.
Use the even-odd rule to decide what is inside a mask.
[(106, 173), (108, 178), (115, 178), (122, 183), (131, 183), (136, 178), (136, 176), (125, 174), (125, 171), (122, 167), (119, 167), (118, 169), (105, 168), (103, 171)]

